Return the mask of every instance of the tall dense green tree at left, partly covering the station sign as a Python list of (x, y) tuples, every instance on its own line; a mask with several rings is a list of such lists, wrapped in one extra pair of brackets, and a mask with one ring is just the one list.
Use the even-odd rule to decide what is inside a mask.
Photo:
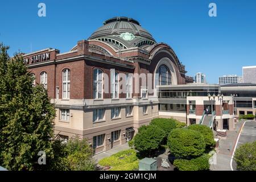
[(53, 159), (51, 138), (55, 108), (46, 90), (32, 86), (21, 56), (10, 58), (0, 44), (0, 165), (10, 170), (44, 169), (38, 152)]

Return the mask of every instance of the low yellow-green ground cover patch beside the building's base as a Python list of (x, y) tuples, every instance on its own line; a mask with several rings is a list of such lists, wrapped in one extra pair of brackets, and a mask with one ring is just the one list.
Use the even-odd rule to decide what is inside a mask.
[(98, 164), (110, 166), (111, 171), (133, 171), (139, 168), (137, 153), (133, 149), (117, 152), (108, 158), (101, 159)]

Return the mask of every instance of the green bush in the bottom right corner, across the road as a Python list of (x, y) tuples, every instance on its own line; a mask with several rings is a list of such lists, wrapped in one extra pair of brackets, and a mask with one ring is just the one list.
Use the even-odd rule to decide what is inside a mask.
[(256, 141), (242, 144), (237, 148), (234, 160), (241, 171), (256, 171)]

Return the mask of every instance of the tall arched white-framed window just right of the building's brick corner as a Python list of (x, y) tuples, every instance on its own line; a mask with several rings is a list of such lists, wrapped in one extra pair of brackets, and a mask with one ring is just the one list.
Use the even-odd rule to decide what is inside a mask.
[(102, 98), (102, 71), (93, 70), (93, 98)]

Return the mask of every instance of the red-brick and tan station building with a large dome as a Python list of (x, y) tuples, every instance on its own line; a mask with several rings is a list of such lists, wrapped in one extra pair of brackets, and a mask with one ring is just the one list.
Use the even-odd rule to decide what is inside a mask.
[[(185, 84), (174, 50), (127, 17), (106, 20), (68, 52), (46, 48), (23, 57), (33, 84), (42, 84), (55, 104), (55, 134), (87, 138), (95, 153), (127, 142), (159, 116), (158, 96), (149, 92), (155, 85)], [(133, 77), (150, 73), (146, 81)]]

